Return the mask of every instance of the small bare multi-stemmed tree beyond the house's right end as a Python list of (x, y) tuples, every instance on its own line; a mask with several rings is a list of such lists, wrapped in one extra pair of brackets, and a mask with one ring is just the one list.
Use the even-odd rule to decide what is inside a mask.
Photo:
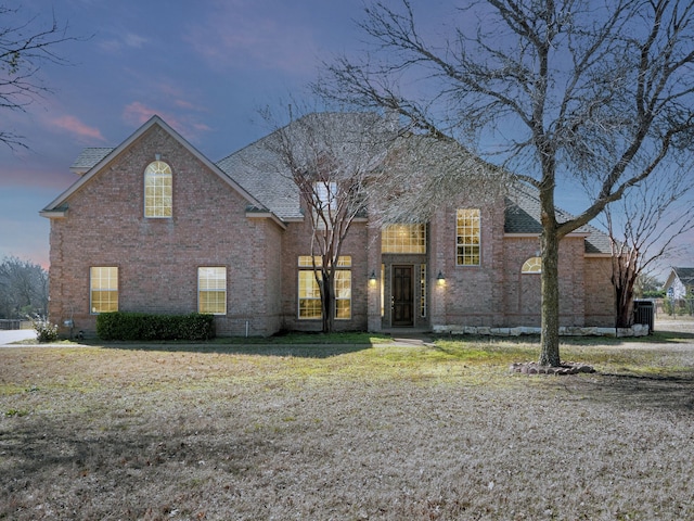
[(658, 260), (685, 247), (677, 239), (694, 230), (694, 190), (689, 169), (647, 179), (605, 209), (612, 239), (616, 326), (633, 323), (637, 281)]

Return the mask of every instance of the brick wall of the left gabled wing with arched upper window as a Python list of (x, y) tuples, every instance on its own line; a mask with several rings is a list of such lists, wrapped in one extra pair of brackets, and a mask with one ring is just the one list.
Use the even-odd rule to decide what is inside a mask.
[[(174, 217), (143, 217), (144, 169), (160, 154), (171, 166)], [(68, 200), (51, 221), (52, 321), (73, 318), (90, 333), (89, 268), (117, 266), (119, 309), (197, 310), (197, 267), (226, 266), (228, 315), (219, 334), (270, 334), (279, 328), (280, 231), (248, 219), (247, 201), (158, 126), (123, 151)], [(275, 301), (277, 302), (277, 301)]]

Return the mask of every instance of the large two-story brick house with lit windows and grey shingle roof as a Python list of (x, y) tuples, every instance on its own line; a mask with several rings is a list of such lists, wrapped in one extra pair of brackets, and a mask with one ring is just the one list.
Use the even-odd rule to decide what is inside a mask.
[[(51, 219), (51, 321), (87, 334), (99, 313), (213, 313), (220, 335), (320, 330), (311, 225), (292, 181), (264, 171), (262, 140), (213, 163), (154, 116), (113, 149), (86, 149)], [(335, 329), (538, 326), (539, 202), (438, 209), (385, 229), (357, 219), (336, 279)], [(308, 259), (308, 260), (307, 260)], [(561, 321), (612, 326), (605, 234), (562, 240)], [(65, 330), (64, 330), (65, 332)]]

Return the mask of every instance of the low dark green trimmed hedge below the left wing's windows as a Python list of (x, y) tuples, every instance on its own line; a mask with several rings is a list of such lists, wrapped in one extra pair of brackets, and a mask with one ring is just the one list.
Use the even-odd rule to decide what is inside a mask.
[(215, 338), (215, 317), (200, 313), (102, 313), (97, 317), (97, 334), (102, 340), (209, 340)]

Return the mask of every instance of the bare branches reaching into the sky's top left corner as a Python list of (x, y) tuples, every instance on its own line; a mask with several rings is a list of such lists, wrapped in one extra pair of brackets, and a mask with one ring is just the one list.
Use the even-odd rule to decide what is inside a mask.
[[(0, 5), (0, 107), (25, 112), (37, 98), (51, 92), (40, 78), (41, 65), (68, 62), (55, 48), (77, 38), (67, 36), (67, 25), (52, 17), (41, 26), (38, 16), (23, 17), (21, 9)], [(0, 142), (11, 149), (26, 148), (25, 138), (0, 129)]]

